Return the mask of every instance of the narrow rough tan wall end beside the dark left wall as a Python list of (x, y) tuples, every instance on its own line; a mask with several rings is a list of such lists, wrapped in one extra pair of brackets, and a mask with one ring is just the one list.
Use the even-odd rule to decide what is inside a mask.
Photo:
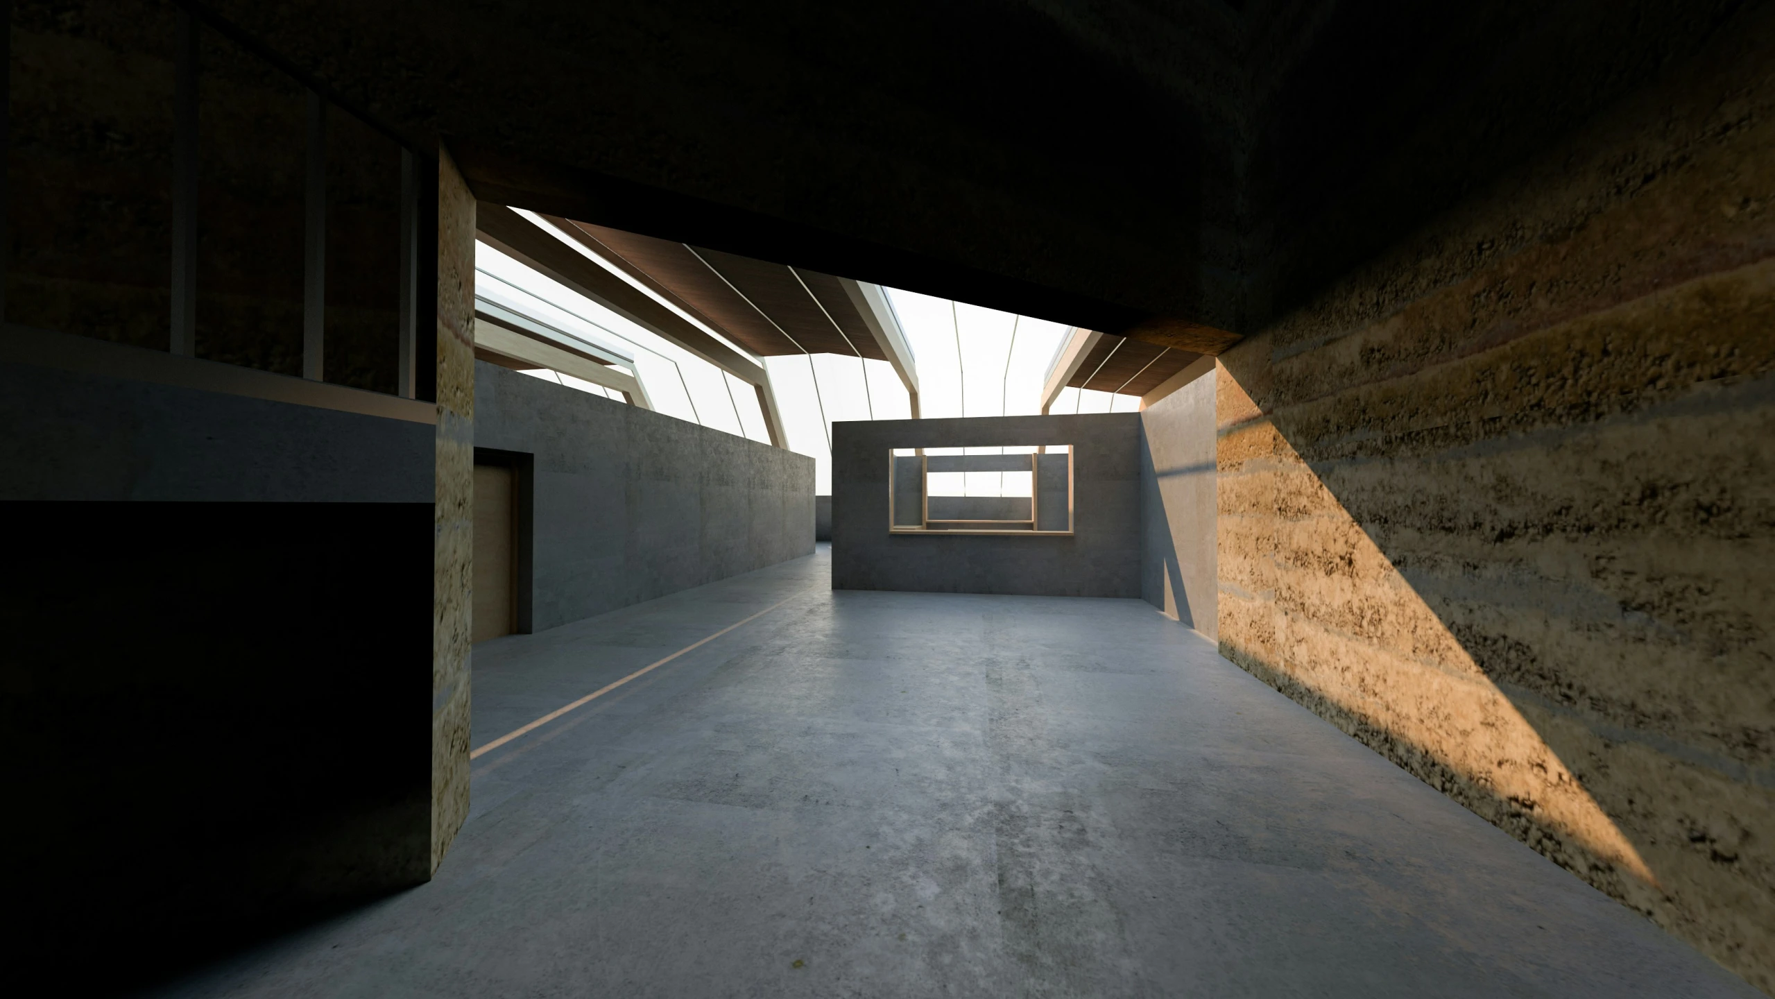
[(438, 151), (437, 493), (431, 591), (431, 871), (469, 816), (474, 577), (474, 195)]

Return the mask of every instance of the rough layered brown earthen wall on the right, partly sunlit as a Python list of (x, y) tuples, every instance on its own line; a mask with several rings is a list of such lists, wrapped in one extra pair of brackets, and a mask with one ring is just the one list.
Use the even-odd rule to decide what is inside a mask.
[(1219, 642), (1775, 992), (1771, 11), (1667, 66), (1221, 357)]

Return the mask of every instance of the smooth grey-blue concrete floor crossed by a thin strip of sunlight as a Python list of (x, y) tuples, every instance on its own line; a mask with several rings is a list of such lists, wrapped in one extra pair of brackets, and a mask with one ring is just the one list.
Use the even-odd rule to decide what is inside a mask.
[(431, 884), (167, 995), (1759, 995), (1136, 600), (829, 552), (476, 648)]

